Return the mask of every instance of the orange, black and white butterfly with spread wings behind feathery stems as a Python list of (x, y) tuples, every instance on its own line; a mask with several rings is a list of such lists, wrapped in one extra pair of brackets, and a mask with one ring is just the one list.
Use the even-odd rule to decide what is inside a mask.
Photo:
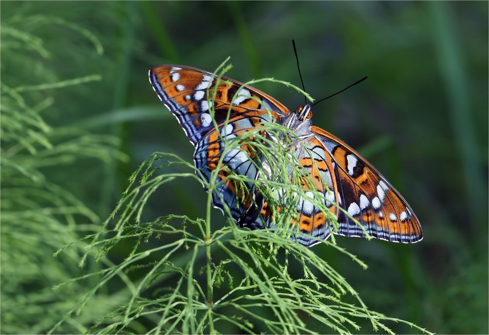
[[(292, 154), (315, 179), (314, 187), (324, 194), (326, 206), (337, 217), (339, 229), (333, 231), (335, 234), (366, 236), (351, 216), (372, 238), (400, 243), (422, 240), (420, 222), (404, 198), (348, 144), (313, 126), (310, 105), (300, 106), (291, 112), (273, 97), (243, 86), (236, 80), (221, 77), (225, 83), (219, 82), (216, 87), (218, 76), (194, 67), (154, 67), (149, 71), (149, 78), (159, 99), (177, 117), (195, 146), (195, 166), (207, 180), (222, 158), (223, 136), (235, 137), (263, 122), (280, 123), (301, 139), (302, 146)], [(209, 102), (207, 94), (211, 91), (215, 92), (215, 99)], [(210, 103), (213, 106), (209, 106)], [(211, 107), (215, 111), (217, 128), (209, 113)], [(249, 179), (258, 177), (256, 166), (251, 161), (255, 155), (253, 152), (246, 155), (242, 151), (231, 150), (225, 155), (222, 164), (228, 170)], [(229, 171), (222, 169), (219, 177), (224, 179), (228, 174)], [(248, 186), (253, 188), (253, 185)], [(226, 204), (241, 226), (264, 228), (270, 221), (267, 201), (239, 192), (231, 180), (221, 183), (214, 192), (219, 194), (213, 193), (213, 205), (223, 209)], [(242, 205), (237, 205), (237, 202)], [(296, 237), (299, 243), (313, 246), (318, 240), (330, 236), (333, 229), (327, 222), (327, 216), (310, 201), (300, 201), (296, 210), (298, 220), (295, 223), (302, 233)]]

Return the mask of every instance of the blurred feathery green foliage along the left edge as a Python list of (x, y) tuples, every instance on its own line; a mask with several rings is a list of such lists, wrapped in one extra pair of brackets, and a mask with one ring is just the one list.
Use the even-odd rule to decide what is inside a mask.
[[(75, 283), (54, 292), (54, 285), (102, 264), (90, 262), (88, 268), (76, 266), (83, 245), (75, 244), (54, 258), (60, 245), (76, 241), (87, 232), (99, 229), (97, 215), (76, 195), (53, 180), (54, 169), (72, 169), (80, 162), (104, 162), (109, 157), (124, 159), (115, 150), (118, 139), (89, 134), (67, 126), (51, 126), (44, 116), (56, 106), (55, 90), (100, 80), (99, 75), (57, 80), (57, 73), (40, 62), (51, 57), (44, 40), (34, 35), (42, 24), (60, 24), (88, 38), (97, 52), (101, 45), (94, 36), (75, 24), (43, 16), (2, 22), (0, 86), (1, 135), (1, 333), (40, 334), (59, 319), (83, 291)], [(44, 22), (44, 23), (43, 23)], [(29, 28), (30, 27), (30, 28)], [(5, 52), (5, 51), (16, 51)], [(18, 60), (34, 65), (28, 83), (20, 85), (22, 71)], [(39, 84), (37, 84), (39, 83)], [(69, 112), (67, 112), (69, 115)], [(76, 178), (77, 176), (73, 176)], [(112, 309), (115, 301), (99, 305), (99, 312)], [(97, 314), (85, 313), (60, 332), (85, 332), (84, 324)], [(104, 311), (105, 313), (106, 311)]]

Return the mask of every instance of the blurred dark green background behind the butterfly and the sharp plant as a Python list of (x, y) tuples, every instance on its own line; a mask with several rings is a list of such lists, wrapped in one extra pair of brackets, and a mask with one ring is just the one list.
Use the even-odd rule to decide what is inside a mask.
[[(41, 116), (52, 129), (113, 136), (107, 152), (40, 164), (49, 156), (9, 155), (20, 139), (6, 139), (2, 126), (2, 333), (46, 332), (70, 300), (89, 289), (89, 283), (79, 283), (70, 288), (72, 296), (52, 291), (100, 266), (78, 268), (76, 252), (58, 258), (52, 253), (97, 229), (141, 161), (155, 151), (191, 161), (193, 148), (153, 92), (149, 68), (181, 64), (213, 71), (231, 56), (234, 67), (227, 75), (233, 79), (274, 77), (299, 85), (292, 38), (314, 98), (369, 77), (317, 105), (313, 122), (376, 166), (410, 203), (424, 233), (416, 245), (338, 237), (367, 270), (326, 247), (315, 251), (375, 311), (438, 334), (489, 332), (487, 1), (2, 1), (2, 94), (100, 75), (81, 85), (27, 90), (24, 99), (30, 106), (49, 102)], [(258, 88), (291, 110), (303, 103), (282, 85)], [(2, 99), (5, 115), (9, 98)], [(51, 140), (68, 141), (57, 136)], [(48, 206), (44, 199), (10, 200), (9, 186), (17, 177), (7, 175), (7, 158), (21, 166), (39, 164), (36, 171), (45, 180), (70, 192), (93, 215), (74, 213), (67, 220), (68, 214), (54, 213), (64, 228), (50, 230), (42, 220), (21, 220), (27, 210)], [(171, 183), (153, 197), (145, 215), (202, 217), (205, 199), (195, 182)], [(215, 214), (219, 221), (221, 214)], [(112, 250), (111, 261), (120, 261), (130, 247)], [(107, 288), (100, 299), (117, 306), (112, 293)], [(81, 332), (95, 321), (79, 317), (68, 323), (71, 332)]]

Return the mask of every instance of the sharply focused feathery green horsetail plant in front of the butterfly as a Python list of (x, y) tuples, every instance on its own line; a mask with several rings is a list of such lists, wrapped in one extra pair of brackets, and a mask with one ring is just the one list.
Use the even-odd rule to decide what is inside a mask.
[[(217, 73), (222, 75), (228, 68)], [(215, 90), (208, 95), (209, 102), (213, 102)], [(212, 117), (214, 112), (211, 108)], [(220, 133), (214, 117), (213, 122)], [(392, 333), (384, 324), (388, 320), (403, 322), (429, 333), (407, 321), (370, 311), (334, 268), (313, 249), (290, 238), (299, 233), (290, 224), (297, 220), (297, 212), (289, 208), (295, 209), (298, 199), (308, 196), (300, 183), (289, 181), (287, 171), (292, 169), (292, 181), (311, 177), (298, 167), (297, 158), (289, 155), (290, 143), (280, 145), (270, 139), (293, 141), (295, 135), (289, 129), (275, 123), (263, 123), (233, 138), (220, 136), (224, 150), (217, 166), (221, 168), (214, 170), (209, 180), (193, 164), (167, 153), (153, 154), (131, 175), (123, 197), (104, 223), (106, 230), (83, 239), (88, 241), (89, 247), (82, 263), (93, 252), (95, 260), (103, 260), (122, 241), (132, 241), (133, 248), (119, 264), (90, 274), (98, 278), (96, 285), (50, 333), (57, 333), (58, 327), (68, 322), (75, 312), (86, 309), (85, 304), (107, 285), (125, 286), (121, 291), (130, 292), (130, 296), (119, 308), (100, 318), (89, 333), (215, 334), (225, 332), (225, 324), (229, 323), (250, 334), (255, 333), (257, 324), (275, 334), (312, 334), (321, 331), (311, 327), (311, 321), (315, 320), (323, 326), (323, 332), (324, 327), (328, 327), (335, 333), (349, 334), (359, 329), (356, 324), (359, 318), (370, 320), (374, 330), (382, 329), (387, 333)], [(242, 145), (263, 156), (263, 164), (254, 164), (259, 175), (267, 177), (247, 179), (233, 174), (222, 164), (227, 151), (240, 150)], [(177, 171), (165, 171), (175, 165)], [(224, 178), (220, 177), (222, 170), (225, 170)], [(205, 219), (170, 214), (150, 222), (143, 221), (144, 207), (156, 190), (184, 178), (200, 182), (207, 190)], [(251, 231), (239, 228), (226, 206), (227, 224), (214, 228), (212, 192), (229, 181), (234, 183), (237, 194), (246, 193), (244, 182), (250, 182), (265, 195), (273, 210), (274, 229)], [(312, 184), (312, 180), (310, 182)], [(331, 229), (337, 229), (338, 223), (325, 207), (324, 197), (316, 191), (313, 199), (308, 199), (330, 215)], [(154, 243), (155, 239), (159, 243)], [(322, 243), (366, 268), (356, 256), (336, 246), (334, 239)], [(58, 253), (69, 250), (66, 247)], [(290, 267), (301, 267), (303, 276), (291, 276)], [(145, 269), (145, 275), (130, 280), (135, 269)], [(123, 283), (114, 284), (117, 277)], [(58, 288), (86, 278), (87, 275), (80, 276)], [(228, 288), (227, 292), (215, 295), (214, 288), (222, 286)], [(345, 297), (348, 296), (356, 303), (347, 301), (349, 299)]]

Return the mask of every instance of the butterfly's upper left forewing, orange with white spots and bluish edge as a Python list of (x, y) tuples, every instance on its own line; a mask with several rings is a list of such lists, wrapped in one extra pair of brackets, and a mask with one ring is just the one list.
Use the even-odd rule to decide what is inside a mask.
[[(156, 94), (177, 117), (194, 145), (204, 134), (214, 129), (209, 114), (211, 103), (214, 104), (214, 118), (219, 125), (227, 118), (256, 116), (267, 110), (273, 115), (273, 121), (289, 113), (284, 105), (265, 93), (249, 86), (242, 87), (242, 83), (226, 77), (221, 78), (222, 84), (216, 89), (215, 99), (208, 99), (208, 94), (213, 94), (218, 77), (197, 68), (160, 66), (152, 68), (149, 76)], [(228, 115), (231, 101), (232, 108)]]

